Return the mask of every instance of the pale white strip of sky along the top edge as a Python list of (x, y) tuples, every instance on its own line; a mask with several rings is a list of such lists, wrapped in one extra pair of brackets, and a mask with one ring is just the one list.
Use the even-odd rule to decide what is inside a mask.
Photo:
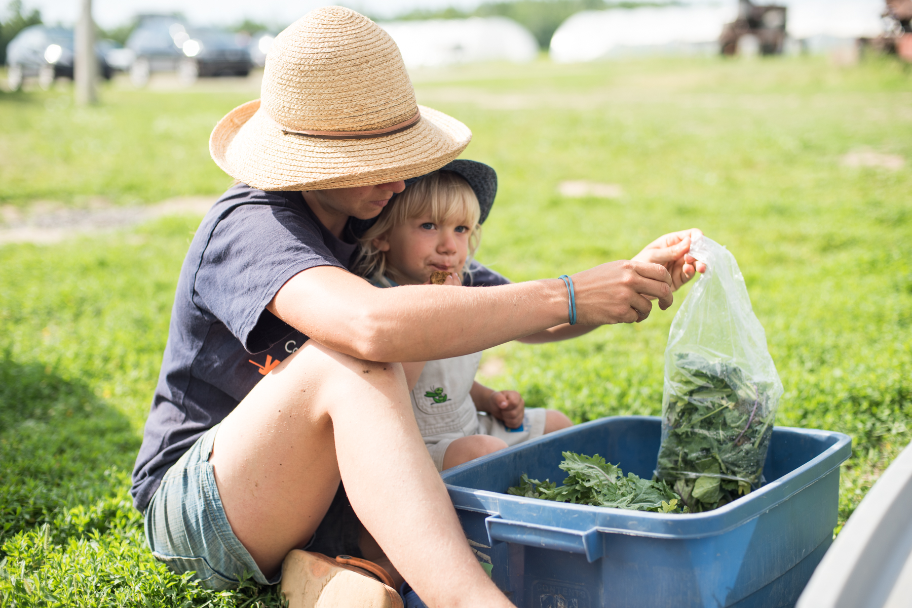
[[(686, 0), (706, 3), (708, 0)], [(722, 4), (735, 5), (736, 0), (717, 0)], [(774, 2), (775, 0), (771, 0)], [(3, 0), (0, 0), (3, 2)], [(139, 13), (181, 12), (191, 23), (198, 25), (231, 25), (250, 18), (267, 26), (287, 26), (308, 11), (319, 6), (344, 4), (362, 13), (379, 17), (392, 17), (415, 8), (443, 8), (458, 6), (464, 9), (481, 4), (482, 0), (93, 0), (93, 14), (99, 26), (106, 29), (126, 24)], [(4, 3), (5, 4), (5, 3)], [(759, 3), (760, 4), (760, 3)], [(791, 9), (803, 9), (820, 13), (833, 13), (834, 6), (851, 8), (849, 13), (864, 9), (879, 15), (883, 0), (779, 0), (776, 4)], [(79, 0), (23, 0), (26, 11), (41, 10), (47, 24), (72, 25), (76, 22)], [(843, 11), (845, 12), (845, 11)]]

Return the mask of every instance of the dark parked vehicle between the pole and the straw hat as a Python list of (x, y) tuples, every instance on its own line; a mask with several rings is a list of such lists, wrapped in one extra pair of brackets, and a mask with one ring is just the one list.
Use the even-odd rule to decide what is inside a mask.
[(127, 39), (135, 59), (130, 80), (144, 86), (155, 72), (177, 72), (185, 83), (201, 76), (247, 76), (252, 67), (249, 36), (192, 28), (169, 15), (140, 15)]

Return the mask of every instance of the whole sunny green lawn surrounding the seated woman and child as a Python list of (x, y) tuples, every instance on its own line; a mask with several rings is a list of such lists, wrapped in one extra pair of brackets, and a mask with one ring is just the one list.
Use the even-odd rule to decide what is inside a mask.
[[(633, 255), (699, 226), (741, 264), (785, 394), (777, 422), (854, 438), (840, 526), (912, 438), (912, 75), (888, 61), (637, 60), (415, 75), (499, 171), (479, 258), (513, 280)], [(0, 204), (159, 201), (222, 190), (209, 130), (254, 94), (0, 94)], [(854, 151), (907, 159), (848, 167)], [(877, 157), (868, 157), (877, 158)], [(617, 184), (567, 198), (562, 180)], [(0, 605), (276, 603), (212, 593), (154, 562), (130, 469), (181, 259), (199, 217), (0, 247)], [(576, 421), (658, 414), (668, 326), (502, 345), (483, 380)], [(621, 463), (623, 466), (623, 463)], [(837, 528), (838, 531), (838, 528)]]

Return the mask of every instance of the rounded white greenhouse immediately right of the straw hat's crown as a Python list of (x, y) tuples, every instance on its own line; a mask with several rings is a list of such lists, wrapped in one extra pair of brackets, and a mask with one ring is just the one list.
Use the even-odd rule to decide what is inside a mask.
[(389, 32), (406, 67), (439, 67), (478, 61), (532, 61), (538, 43), (525, 27), (506, 17), (392, 21)]

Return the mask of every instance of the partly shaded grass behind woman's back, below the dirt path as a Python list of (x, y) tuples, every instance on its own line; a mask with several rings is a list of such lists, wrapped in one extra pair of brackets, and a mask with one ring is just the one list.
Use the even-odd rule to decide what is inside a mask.
[(260, 593), (168, 572), (130, 499), (174, 275), (198, 220), (0, 248), (0, 605), (235, 606)]

